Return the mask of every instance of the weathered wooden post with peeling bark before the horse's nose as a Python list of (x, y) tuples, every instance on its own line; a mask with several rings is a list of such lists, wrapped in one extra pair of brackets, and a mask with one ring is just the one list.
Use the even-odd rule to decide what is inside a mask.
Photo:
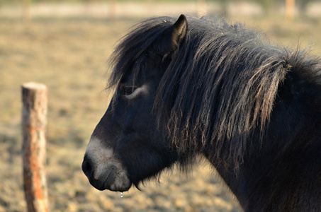
[(49, 211), (45, 176), (47, 87), (22, 85), (23, 181), (28, 212)]

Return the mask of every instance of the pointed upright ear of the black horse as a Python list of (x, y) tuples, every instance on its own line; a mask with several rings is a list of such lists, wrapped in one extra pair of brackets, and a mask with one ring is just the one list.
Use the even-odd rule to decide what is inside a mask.
[(179, 16), (179, 19), (176, 20), (174, 25), (171, 25), (169, 28), (164, 30), (162, 36), (157, 40), (159, 54), (162, 55), (163, 60), (169, 54), (176, 51), (179, 46), (184, 41), (184, 38), (187, 33), (187, 20), (186, 17), (182, 14)]

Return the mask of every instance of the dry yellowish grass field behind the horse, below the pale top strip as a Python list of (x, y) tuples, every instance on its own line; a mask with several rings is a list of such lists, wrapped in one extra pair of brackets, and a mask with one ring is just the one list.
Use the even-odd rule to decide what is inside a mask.
[[(159, 13), (162, 15), (162, 13)], [(50, 211), (240, 211), (205, 162), (190, 175), (176, 169), (159, 182), (120, 193), (98, 192), (81, 172), (91, 132), (108, 106), (106, 61), (140, 18), (45, 17), (25, 24), (0, 18), (0, 212), (26, 211), (21, 161), (21, 84), (49, 89), (47, 184)], [(281, 16), (231, 16), (266, 32), (277, 45), (312, 48), (321, 55), (321, 20), (286, 22)]]

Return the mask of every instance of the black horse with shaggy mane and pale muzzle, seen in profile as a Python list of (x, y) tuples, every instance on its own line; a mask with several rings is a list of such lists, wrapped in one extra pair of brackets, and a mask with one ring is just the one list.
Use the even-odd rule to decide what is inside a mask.
[(111, 59), (89, 182), (124, 192), (203, 155), (244, 211), (321, 211), (321, 62), (261, 40), (184, 15), (137, 25)]

